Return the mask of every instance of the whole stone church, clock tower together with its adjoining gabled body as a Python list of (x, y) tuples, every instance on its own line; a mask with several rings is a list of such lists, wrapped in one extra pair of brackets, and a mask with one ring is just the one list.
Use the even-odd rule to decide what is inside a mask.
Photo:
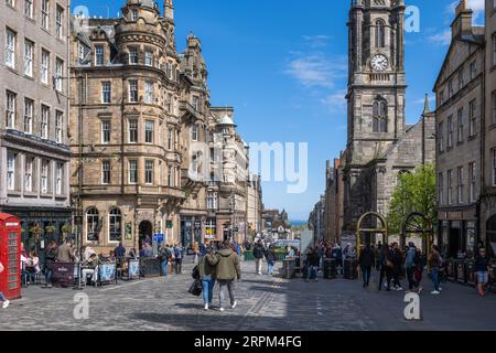
[(344, 153), (344, 225), (387, 215), (399, 173), (434, 160), (429, 109), (407, 126), (403, 0), (354, 0), (349, 11), (348, 141)]

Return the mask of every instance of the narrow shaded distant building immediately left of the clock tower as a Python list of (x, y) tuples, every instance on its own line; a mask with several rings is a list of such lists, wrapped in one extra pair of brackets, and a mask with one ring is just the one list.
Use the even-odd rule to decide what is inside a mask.
[(325, 203), (324, 203), (324, 235), (332, 243), (339, 242), (343, 228), (343, 163), (342, 159), (335, 159), (326, 163), (325, 176)]

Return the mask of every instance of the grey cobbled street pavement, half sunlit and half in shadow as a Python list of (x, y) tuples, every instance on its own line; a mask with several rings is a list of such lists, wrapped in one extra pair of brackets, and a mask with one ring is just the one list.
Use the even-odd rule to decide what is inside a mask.
[[(496, 295), (477, 296), (474, 288), (444, 284), (432, 296), (424, 279), (422, 321), (406, 321), (403, 292), (370, 292), (359, 281), (306, 282), (258, 276), (255, 264), (242, 261), (237, 282), (238, 307), (218, 311), (217, 286), (213, 310), (187, 292), (193, 260), (183, 275), (119, 281), (118, 286), (42, 289), (30, 286), (23, 298), (0, 309), (0, 330), (8, 331), (444, 331), (496, 330)], [(277, 267), (280, 269), (279, 267)], [(374, 280), (374, 279), (373, 279)], [(406, 285), (406, 282), (403, 282)], [(86, 293), (88, 318), (74, 315), (76, 295)], [(77, 315), (76, 315), (77, 317)]]

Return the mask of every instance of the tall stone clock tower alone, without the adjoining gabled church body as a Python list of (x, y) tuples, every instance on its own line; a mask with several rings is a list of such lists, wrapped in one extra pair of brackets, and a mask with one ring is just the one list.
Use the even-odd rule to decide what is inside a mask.
[[(367, 168), (405, 133), (403, 0), (352, 0), (345, 223), (373, 211)], [(346, 208), (348, 208), (346, 211)]]

